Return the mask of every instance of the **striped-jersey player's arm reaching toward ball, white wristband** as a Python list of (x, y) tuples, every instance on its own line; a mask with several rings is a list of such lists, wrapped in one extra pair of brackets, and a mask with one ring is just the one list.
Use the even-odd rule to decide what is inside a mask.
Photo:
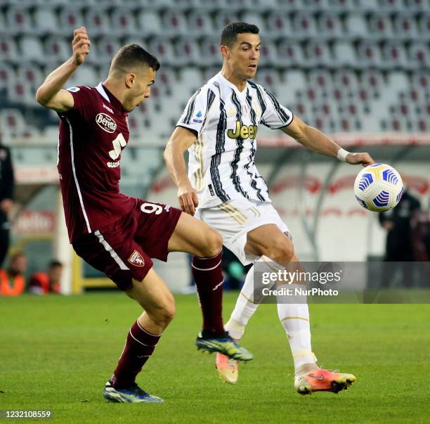
[(344, 160), (351, 165), (361, 164), (363, 167), (367, 167), (367, 165), (372, 165), (372, 163), (374, 163), (374, 160), (370, 157), (369, 153), (347, 152), (325, 136), (321, 131), (305, 124), (297, 116), (294, 116), (291, 124), (287, 127), (281, 128), (281, 130), (303, 146), (313, 150), (315, 153), (319, 153), (320, 155), (338, 158), (339, 160)]

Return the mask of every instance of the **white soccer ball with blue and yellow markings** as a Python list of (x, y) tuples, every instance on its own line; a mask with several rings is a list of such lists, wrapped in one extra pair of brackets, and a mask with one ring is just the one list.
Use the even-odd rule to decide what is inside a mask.
[(354, 183), (358, 203), (373, 212), (382, 212), (395, 207), (403, 195), (400, 174), (383, 163), (375, 163), (362, 169)]

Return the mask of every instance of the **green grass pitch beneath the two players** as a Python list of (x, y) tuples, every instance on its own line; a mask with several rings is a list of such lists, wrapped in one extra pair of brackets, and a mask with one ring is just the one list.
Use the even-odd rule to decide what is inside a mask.
[[(237, 293), (226, 293), (228, 318)], [(103, 385), (139, 314), (121, 293), (0, 298), (0, 409), (53, 411), (58, 423), (428, 423), (427, 304), (312, 304), (319, 364), (355, 373), (348, 392), (294, 392), (292, 358), (273, 304), (261, 305), (243, 345), (254, 360), (232, 386), (214, 355), (197, 352), (200, 309), (177, 313), (138, 377), (164, 404), (107, 404)], [(8, 420), (12, 421), (12, 420)]]

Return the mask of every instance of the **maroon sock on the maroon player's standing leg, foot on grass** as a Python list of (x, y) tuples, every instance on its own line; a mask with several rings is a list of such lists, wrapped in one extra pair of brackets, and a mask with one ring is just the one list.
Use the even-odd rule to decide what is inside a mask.
[(145, 330), (136, 321), (127, 335), (126, 345), (119, 358), (111, 383), (115, 388), (130, 387), (148, 361), (161, 335), (155, 335)]

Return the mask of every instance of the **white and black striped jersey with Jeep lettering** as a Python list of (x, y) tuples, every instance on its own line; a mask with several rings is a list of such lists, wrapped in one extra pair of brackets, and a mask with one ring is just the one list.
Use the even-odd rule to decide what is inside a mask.
[(259, 124), (286, 127), (293, 114), (259, 84), (244, 91), (221, 72), (190, 98), (178, 127), (196, 132), (188, 151), (188, 176), (199, 196), (199, 207), (214, 207), (245, 197), (270, 202), (268, 188), (254, 163)]

